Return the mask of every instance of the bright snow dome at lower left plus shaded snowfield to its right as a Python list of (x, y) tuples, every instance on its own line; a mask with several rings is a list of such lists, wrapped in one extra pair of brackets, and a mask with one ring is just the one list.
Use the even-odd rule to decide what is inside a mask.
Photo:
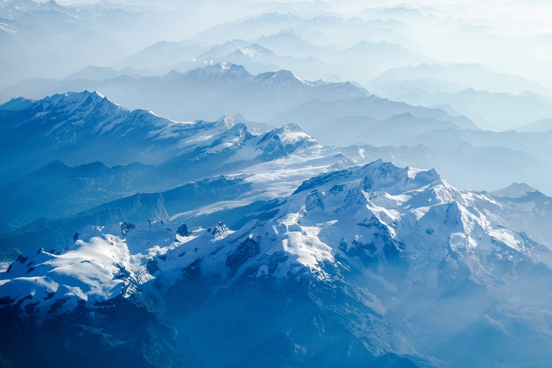
[(177, 228), (172, 231), (165, 225), (152, 221), (138, 227), (86, 226), (61, 249), (21, 255), (6, 271), (12, 279), (0, 281), (1, 294), (48, 315), (70, 311), (79, 300), (93, 307), (128, 297), (151, 280), (146, 271), (150, 257), (165, 253), (177, 238)]

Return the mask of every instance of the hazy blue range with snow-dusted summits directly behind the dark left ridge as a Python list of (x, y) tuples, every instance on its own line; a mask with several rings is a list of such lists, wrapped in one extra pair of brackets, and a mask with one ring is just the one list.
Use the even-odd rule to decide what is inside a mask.
[[(6, 88), (3, 95), (8, 99), (23, 90), (34, 90), (34, 93), (25, 93), (25, 97), (41, 98), (40, 94), (82, 89), (101, 90), (119, 104), (130, 108), (145, 107), (178, 121), (213, 120), (239, 113), (252, 121), (275, 126), (296, 123), (328, 144), (394, 142), (399, 137), (386, 130), (389, 124), (386, 119), (399, 125), (417, 126), (410, 135), (435, 128), (477, 129), (466, 117), (449, 115), (438, 108), (382, 99), (351, 82), (306, 81), (288, 70), (251, 75), (243, 66), (228, 63), (185, 73), (172, 71), (164, 77), (122, 75), (103, 81), (25, 81), (20, 86)], [(382, 132), (380, 135), (364, 133), (362, 130), (370, 127), (364, 124), (361, 134), (345, 135), (346, 140), (335, 142), (331, 121), (346, 119), (348, 124), (351, 117), (366, 117), (371, 123), (379, 123)], [(404, 133), (408, 134), (406, 130)]]

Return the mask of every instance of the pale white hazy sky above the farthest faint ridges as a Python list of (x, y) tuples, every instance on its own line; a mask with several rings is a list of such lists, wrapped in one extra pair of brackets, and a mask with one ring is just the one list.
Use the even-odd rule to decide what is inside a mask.
[[(97, 3), (95, 0), (58, 0), (61, 4)], [(334, 12), (345, 19), (363, 17), (360, 12), (366, 8), (402, 6), (419, 8), (421, 17), (398, 16), (398, 22), (411, 27), (404, 37), (411, 39), (418, 47), (415, 52), (431, 58), (437, 63), (479, 63), (491, 66), (497, 72), (508, 72), (533, 79), (546, 88), (552, 86), (549, 65), (552, 52), (552, 1), (523, 0), (317, 0), (317, 1), (253, 1), (237, 0), (114, 0), (130, 6), (147, 6), (161, 9), (186, 9), (181, 12), (159, 13), (160, 26), (150, 26), (146, 35), (132, 39), (128, 35), (128, 47), (133, 52), (159, 40), (181, 41), (193, 37), (218, 23), (250, 17), (262, 12), (295, 12), (311, 18), (320, 12)], [(424, 4), (427, 6), (424, 8)], [(428, 14), (436, 15), (440, 21)], [(159, 18), (165, 17), (162, 21)], [(395, 17), (389, 15), (388, 17)], [(406, 18), (404, 18), (406, 17)], [(447, 21), (451, 19), (451, 21)], [(292, 26), (290, 26), (292, 27)], [(259, 37), (262, 30), (259, 24)], [(337, 33), (336, 33), (337, 32)], [(347, 32), (347, 31), (345, 31)], [(147, 37), (145, 37), (147, 36)], [(355, 35), (331, 32), (336, 46), (349, 47), (348, 43), (358, 41)], [(353, 37), (351, 37), (353, 36)], [(243, 38), (244, 36), (242, 36)], [(366, 35), (372, 37), (372, 35)], [(146, 41), (147, 40), (147, 41)], [(217, 39), (223, 43), (227, 39)], [(369, 39), (369, 41), (381, 41)], [(397, 42), (391, 41), (391, 42)], [(316, 43), (316, 41), (315, 41)], [(130, 52), (128, 52), (130, 54)], [(125, 55), (121, 55), (122, 59)], [(552, 88), (549, 88), (552, 90)]]

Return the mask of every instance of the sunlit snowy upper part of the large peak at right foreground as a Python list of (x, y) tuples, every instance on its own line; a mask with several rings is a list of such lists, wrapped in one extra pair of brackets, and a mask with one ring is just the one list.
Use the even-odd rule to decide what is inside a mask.
[[(307, 180), (279, 207), (274, 219), (248, 224), (245, 233), (260, 234), (259, 255), (284, 251), (292, 263), (317, 273), (323, 271), (321, 264), (335, 262), (336, 252), (344, 257), (351, 252), (380, 260), (386, 260), (386, 252), (392, 257), (408, 255), (417, 260), (420, 272), (413, 275), (416, 281), (433, 286), (438, 284), (438, 273), (426, 269), (436, 266), (424, 254), (429, 247), (439, 262), (450, 251), (466, 255), (466, 261), (468, 256), (479, 257), (478, 253), (515, 251), (520, 257), (535, 257), (535, 262), (549, 262), (543, 246), (493, 225), (474, 208), (480, 202), (493, 200), (460, 193), (434, 170), (397, 168), (377, 161)], [(244, 239), (243, 230), (230, 239)], [(371, 244), (375, 230), (382, 231), (380, 235), (388, 242)], [(199, 240), (196, 242), (199, 245)], [(195, 247), (194, 242), (190, 244)], [(220, 246), (213, 246), (203, 245), (203, 252), (221, 251)], [(190, 261), (201, 258), (201, 254), (190, 255)], [(206, 264), (209, 262), (206, 257)]]

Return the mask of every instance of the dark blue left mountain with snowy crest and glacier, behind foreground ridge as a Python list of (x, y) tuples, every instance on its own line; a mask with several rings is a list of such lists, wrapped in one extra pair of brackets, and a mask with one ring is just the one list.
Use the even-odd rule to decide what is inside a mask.
[[(349, 164), (294, 124), (264, 132), (240, 117), (173, 122), (126, 110), (96, 92), (12, 100), (1, 113), (7, 183), (0, 186), (0, 228), (19, 228), (1, 235), (2, 248), (28, 250), (36, 237), (63, 244), (87, 223), (144, 221), (155, 213), (186, 218), (190, 211), (273, 200), (308, 177)], [(247, 193), (211, 195), (201, 206), (186, 198), (201, 192), (188, 191), (190, 182), (226, 193), (231, 180), (216, 188), (205, 182), (220, 175), (242, 178)], [(219, 197), (227, 202), (219, 204)]]

